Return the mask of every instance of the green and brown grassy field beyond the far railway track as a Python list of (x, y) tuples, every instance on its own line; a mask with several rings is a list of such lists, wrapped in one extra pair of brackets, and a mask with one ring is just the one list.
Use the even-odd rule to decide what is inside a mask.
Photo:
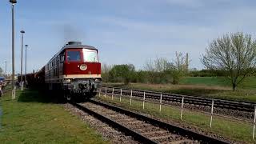
[(122, 83), (105, 83), (107, 86), (117, 86), (139, 90), (154, 90), (173, 94), (185, 94), (202, 96), (207, 98), (222, 98), (228, 100), (238, 100), (256, 102), (256, 78), (248, 78), (233, 91), (226, 78), (211, 77), (188, 77), (183, 78), (181, 84), (146, 84), (130, 83), (125, 86)]

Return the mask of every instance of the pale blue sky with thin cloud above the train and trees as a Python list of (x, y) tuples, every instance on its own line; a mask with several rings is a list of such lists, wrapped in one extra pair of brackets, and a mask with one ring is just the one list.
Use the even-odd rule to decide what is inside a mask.
[[(17, 0), (15, 72), (20, 73), (25, 30), (27, 72), (39, 70), (69, 41), (98, 48), (107, 65), (150, 59), (173, 60), (189, 53), (190, 68), (201, 70), (206, 47), (223, 34), (243, 31), (255, 38), (253, 0)], [(25, 50), (24, 53), (25, 55)], [(11, 5), (0, 0), (0, 67), (11, 72)], [(24, 61), (23, 61), (24, 64)], [(24, 69), (23, 69), (24, 70)], [(24, 72), (23, 72), (24, 73)]]

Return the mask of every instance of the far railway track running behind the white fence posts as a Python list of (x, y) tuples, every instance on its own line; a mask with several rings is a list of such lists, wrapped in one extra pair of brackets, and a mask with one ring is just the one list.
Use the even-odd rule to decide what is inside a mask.
[(241, 102), (241, 101), (230, 101), (218, 98), (203, 98), (195, 97), (181, 94), (168, 94), (148, 90), (134, 90), (134, 89), (123, 89), (118, 87), (107, 87), (103, 86), (102, 93), (107, 94), (122, 94), (130, 96), (132, 94), (135, 98), (143, 99), (144, 95), (146, 99), (160, 100), (162, 95), (162, 102), (178, 102), (182, 103), (182, 98), (184, 98), (184, 103), (196, 106), (211, 106), (214, 101), (214, 108), (228, 109), (228, 110), (240, 110), (246, 112), (254, 112), (256, 106), (255, 102)]

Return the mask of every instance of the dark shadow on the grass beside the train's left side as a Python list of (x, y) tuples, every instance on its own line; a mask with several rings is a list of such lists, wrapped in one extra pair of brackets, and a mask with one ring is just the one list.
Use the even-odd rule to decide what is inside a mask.
[(42, 103), (63, 103), (58, 98), (59, 94), (54, 91), (26, 89), (19, 92), (18, 102), (42, 102)]

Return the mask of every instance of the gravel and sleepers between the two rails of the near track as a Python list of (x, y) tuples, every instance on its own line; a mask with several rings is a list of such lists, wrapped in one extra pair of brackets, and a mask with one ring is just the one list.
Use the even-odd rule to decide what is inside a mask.
[(136, 118), (131, 118), (126, 114), (120, 114), (114, 110), (107, 109), (103, 106), (98, 106), (90, 102), (82, 103), (82, 106), (86, 106), (90, 110), (94, 110), (98, 114), (102, 114), (107, 118), (114, 120), (122, 124), (123, 126), (129, 127), (131, 130), (134, 130), (147, 138), (150, 138), (154, 142), (159, 143), (199, 143), (198, 141), (190, 140), (189, 138), (183, 137), (178, 134), (172, 134), (168, 130), (154, 126), (148, 122), (143, 122)]

